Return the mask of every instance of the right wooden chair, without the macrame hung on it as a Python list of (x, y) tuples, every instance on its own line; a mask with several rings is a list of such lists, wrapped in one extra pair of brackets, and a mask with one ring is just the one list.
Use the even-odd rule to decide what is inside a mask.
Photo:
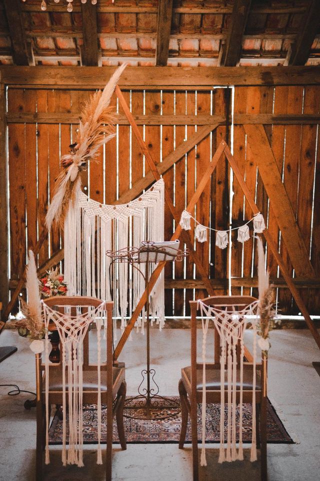
[[(256, 301), (255, 298), (249, 296), (212, 296), (202, 299), (207, 306), (214, 306), (218, 309), (227, 308), (240, 310), (245, 306)], [(197, 449), (197, 403), (202, 403), (202, 363), (196, 362), (196, 313), (197, 301), (189, 301), (191, 309), (191, 365), (181, 370), (181, 379), (178, 384), (180, 402), (181, 402), (181, 432), (179, 439), (179, 448), (183, 448), (185, 441), (188, 415), (191, 420), (191, 438), (192, 438), (192, 464), (193, 464), (193, 481), (198, 481), (198, 449)], [(220, 383), (220, 343), (219, 335), (214, 327), (214, 363), (206, 363), (206, 403), (220, 403), (221, 383)], [(237, 346), (238, 347), (238, 346)], [(237, 357), (240, 350), (237, 349)], [(252, 357), (246, 350), (247, 361), (251, 361)], [(243, 403), (252, 403), (252, 363), (244, 362), (243, 364)], [(256, 433), (257, 447), (260, 447), (261, 457), (261, 479), (266, 481), (266, 390), (261, 389), (265, 386), (263, 378), (263, 369), (261, 363), (256, 363)], [(227, 390), (224, 388), (224, 399), (227, 400)], [(237, 386), (239, 389), (239, 376), (237, 375)], [(239, 400), (237, 393), (236, 402)]]

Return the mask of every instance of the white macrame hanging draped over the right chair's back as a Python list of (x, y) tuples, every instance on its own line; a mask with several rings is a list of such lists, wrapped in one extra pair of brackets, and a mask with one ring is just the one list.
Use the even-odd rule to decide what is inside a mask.
[[(255, 386), (256, 386), (256, 341), (257, 341), (257, 309), (259, 301), (248, 304), (240, 311), (221, 310), (207, 306), (198, 301), (198, 309), (202, 318), (202, 362), (203, 362), (203, 391), (202, 391), (202, 450), (201, 466), (206, 466), (205, 459), (205, 351), (206, 335), (209, 321), (212, 321), (220, 338), (220, 382), (224, 386), (225, 372), (227, 378), (227, 418), (224, 418), (224, 389), (221, 389), (220, 403), (220, 450), (218, 462), (243, 459), (242, 447), (242, 399), (243, 399), (243, 335), (245, 329), (253, 330), (253, 362), (252, 362), (252, 439), (250, 460), (256, 460), (256, 425), (255, 425)], [(247, 316), (250, 316), (249, 318)], [(253, 317), (252, 317), (253, 316)], [(236, 346), (240, 345), (240, 366), (237, 370)], [(237, 374), (239, 378), (237, 379)], [(239, 392), (239, 443), (236, 446), (236, 382), (240, 382)], [(227, 425), (227, 435), (224, 438), (224, 425)], [(226, 447), (225, 447), (226, 443)]]

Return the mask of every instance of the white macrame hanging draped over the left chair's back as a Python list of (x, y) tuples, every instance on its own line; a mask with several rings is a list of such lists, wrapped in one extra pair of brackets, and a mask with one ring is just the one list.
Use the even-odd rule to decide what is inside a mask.
[[(49, 323), (53, 322), (59, 333), (62, 346), (62, 411), (69, 414), (69, 438), (66, 448), (66, 416), (63, 415), (62, 424), (62, 464), (76, 464), (83, 466), (83, 438), (82, 438), (82, 363), (83, 363), (83, 339), (87, 333), (89, 324), (94, 320), (97, 329), (97, 419), (98, 419), (98, 446), (97, 464), (102, 464), (101, 458), (101, 327), (105, 319), (104, 302), (98, 307), (88, 306), (88, 312), (78, 312), (71, 316), (70, 312), (60, 313), (47, 306), (41, 301), (43, 321), (46, 328), (44, 340), (44, 365), (45, 365), (45, 464), (49, 459), (49, 352), (50, 342), (48, 339)], [(66, 308), (67, 309), (67, 308)], [(42, 342), (42, 341), (40, 341)], [(68, 401), (66, 401), (66, 385), (68, 386)]]

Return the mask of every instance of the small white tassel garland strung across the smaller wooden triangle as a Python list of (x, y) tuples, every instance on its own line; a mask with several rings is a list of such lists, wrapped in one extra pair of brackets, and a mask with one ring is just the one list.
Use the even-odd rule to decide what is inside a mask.
[[(182, 229), (184, 230), (190, 230), (191, 229), (191, 219), (194, 220), (194, 223), (196, 224), (195, 229), (194, 229), (194, 234), (195, 238), (197, 239), (198, 242), (206, 242), (207, 240), (207, 231), (208, 230), (213, 230), (216, 232), (216, 238), (215, 238), (215, 245), (219, 249), (225, 249), (229, 243), (228, 236), (229, 236), (229, 231), (228, 230), (217, 230), (213, 229), (212, 227), (206, 227), (205, 225), (200, 224), (187, 210), (183, 210), (180, 218), (180, 225)], [(241, 242), (242, 244), (246, 242), (246, 240), (249, 240), (250, 238), (250, 233), (249, 233), (249, 226), (248, 224), (253, 221), (253, 232), (254, 233), (261, 233), (265, 229), (265, 223), (263, 219), (263, 215), (258, 212), (254, 214), (254, 216), (248, 220), (244, 225), (241, 225), (240, 227), (234, 227), (231, 228), (230, 230), (237, 230), (238, 235), (237, 235), (237, 240), (238, 242)]]

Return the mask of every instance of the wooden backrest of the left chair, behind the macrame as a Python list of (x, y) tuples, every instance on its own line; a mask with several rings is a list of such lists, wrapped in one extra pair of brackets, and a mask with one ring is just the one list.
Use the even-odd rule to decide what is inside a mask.
[[(45, 299), (43, 303), (54, 311), (63, 316), (68, 314), (69, 317), (76, 319), (81, 315), (85, 315), (90, 308), (98, 308), (103, 305), (106, 311), (106, 356), (110, 356), (112, 363), (112, 308), (113, 302), (103, 302), (100, 299), (85, 296), (54, 296)], [(91, 323), (94, 321), (92, 318)], [(60, 334), (60, 333), (59, 333)], [(61, 339), (60, 339), (61, 345)], [(108, 364), (108, 362), (106, 363)], [(101, 367), (104, 367), (102, 365)], [(89, 368), (89, 339), (88, 332), (83, 339), (83, 368)]]

